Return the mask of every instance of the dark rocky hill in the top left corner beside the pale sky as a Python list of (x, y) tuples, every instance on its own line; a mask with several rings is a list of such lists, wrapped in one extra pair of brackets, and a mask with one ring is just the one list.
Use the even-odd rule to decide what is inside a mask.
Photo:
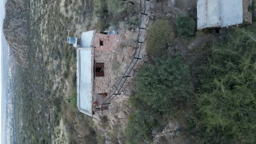
[(5, 4), (3, 33), (13, 51), (17, 63), (22, 67), (27, 67), (27, 1), (7, 1)]

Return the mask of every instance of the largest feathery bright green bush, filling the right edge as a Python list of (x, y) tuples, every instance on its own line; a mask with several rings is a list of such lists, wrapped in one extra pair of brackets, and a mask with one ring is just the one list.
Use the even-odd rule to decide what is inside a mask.
[(228, 143), (256, 141), (256, 42), (248, 34), (253, 35), (236, 28), (212, 45), (196, 99), (206, 137), (221, 135)]

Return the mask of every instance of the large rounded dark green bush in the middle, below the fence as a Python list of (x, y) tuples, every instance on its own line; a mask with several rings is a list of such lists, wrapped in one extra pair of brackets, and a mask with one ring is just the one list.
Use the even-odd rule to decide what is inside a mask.
[(178, 53), (173, 59), (164, 56), (139, 71), (136, 97), (159, 111), (170, 110), (192, 95), (190, 79), (188, 65)]

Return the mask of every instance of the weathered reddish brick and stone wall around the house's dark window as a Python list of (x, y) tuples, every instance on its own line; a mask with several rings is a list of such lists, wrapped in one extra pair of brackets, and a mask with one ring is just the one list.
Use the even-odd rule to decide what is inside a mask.
[[(103, 41), (103, 46), (100, 46), (100, 40)], [(93, 46), (95, 50), (94, 59), (96, 63), (104, 63), (104, 76), (95, 77), (94, 88), (95, 93), (108, 93), (114, 83), (112, 76), (114, 50), (117, 49), (119, 35), (106, 35), (96, 33)]]

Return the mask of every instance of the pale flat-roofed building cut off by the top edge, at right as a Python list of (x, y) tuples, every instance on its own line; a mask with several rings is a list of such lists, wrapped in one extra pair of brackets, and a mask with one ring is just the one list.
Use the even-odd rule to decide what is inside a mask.
[(252, 0), (197, 0), (197, 29), (251, 24)]

